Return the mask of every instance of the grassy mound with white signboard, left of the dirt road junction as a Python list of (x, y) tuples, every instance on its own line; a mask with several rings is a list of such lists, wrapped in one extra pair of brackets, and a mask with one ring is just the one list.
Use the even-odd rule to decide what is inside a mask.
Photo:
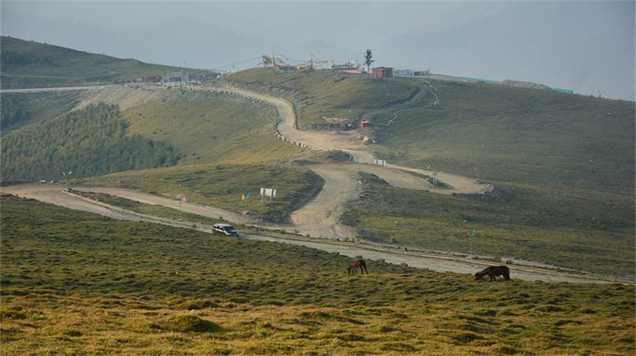
[[(137, 170), (83, 180), (90, 184), (120, 186), (171, 198), (186, 195), (194, 203), (248, 213), (284, 223), (289, 214), (320, 189), (322, 178), (291, 165), (195, 165), (158, 170)], [(277, 189), (271, 203), (261, 202), (260, 189)], [(242, 201), (242, 194), (252, 199)]]

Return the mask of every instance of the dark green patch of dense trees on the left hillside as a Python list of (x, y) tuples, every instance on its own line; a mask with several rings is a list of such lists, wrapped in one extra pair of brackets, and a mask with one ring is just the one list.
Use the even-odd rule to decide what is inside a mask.
[(119, 107), (100, 103), (12, 131), (1, 142), (1, 180), (60, 179), (61, 172), (90, 177), (175, 165), (169, 143), (126, 136)]

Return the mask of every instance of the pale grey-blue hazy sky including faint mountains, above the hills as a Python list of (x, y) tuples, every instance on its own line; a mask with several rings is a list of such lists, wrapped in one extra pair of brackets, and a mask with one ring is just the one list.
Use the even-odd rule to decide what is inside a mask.
[(261, 54), (428, 68), (634, 100), (634, 1), (1, 1), (2, 35), (237, 70)]

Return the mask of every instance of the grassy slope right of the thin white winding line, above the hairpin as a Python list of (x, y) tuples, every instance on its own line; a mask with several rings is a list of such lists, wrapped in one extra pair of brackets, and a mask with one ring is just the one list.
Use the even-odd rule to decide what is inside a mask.
[[(375, 129), (390, 162), (432, 164), (488, 181), (634, 194), (634, 102), (486, 84), (434, 85), (440, 105), (400, 112), (393, 125)], [(386, 122), (393, 114), (370, 117)]]

